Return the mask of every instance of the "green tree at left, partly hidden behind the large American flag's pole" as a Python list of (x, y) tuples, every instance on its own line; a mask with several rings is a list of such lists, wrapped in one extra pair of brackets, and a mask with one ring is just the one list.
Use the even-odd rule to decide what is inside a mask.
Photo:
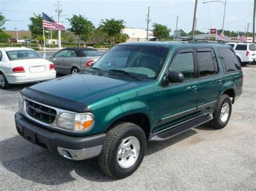
[(33, 17), (30, 17), (29, 20), (31, 23), (28, 25), (29, 30), (31, 31), (32, 37), (34, 39), (40, 39), (42, 43), (43, 39), (43, 17), (38, 14), (34, 14)]

